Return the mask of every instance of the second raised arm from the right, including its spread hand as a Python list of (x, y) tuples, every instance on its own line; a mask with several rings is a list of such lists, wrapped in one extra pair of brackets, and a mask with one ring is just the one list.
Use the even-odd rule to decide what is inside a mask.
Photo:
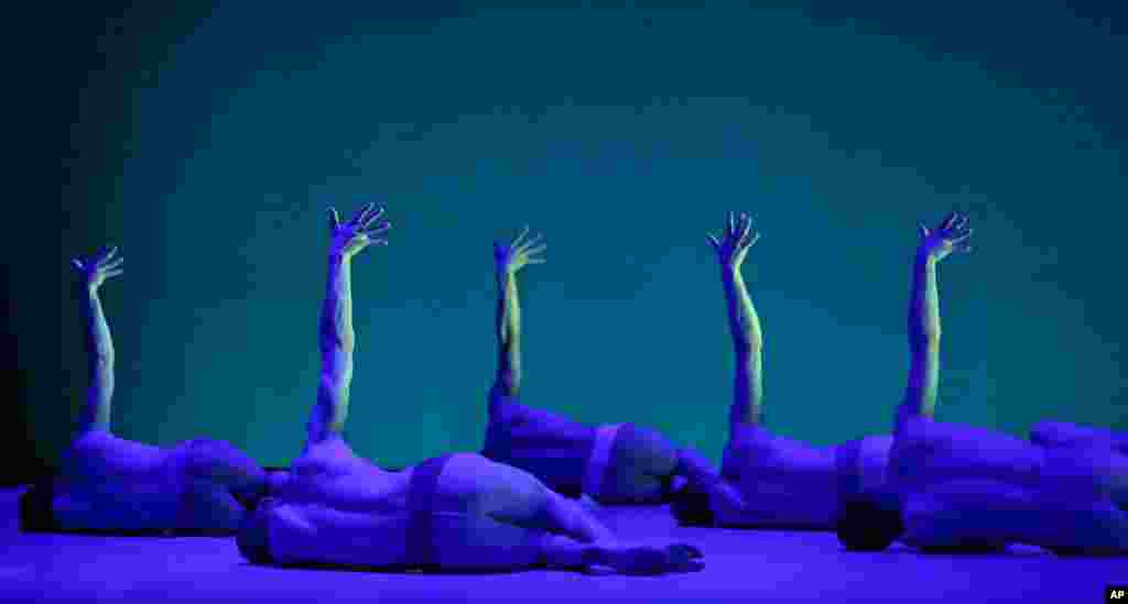
[(729, 331), (737, 353), (732, 408), (729, 411), (730, 434), (739, 426), (754, 426), (761, 419), (764, 336), (760, 332), (760, 318), (756, 314), (756, 307), (752, 305), (744, 278), (740, 274), (748, 249), (759, 238), (760, 234), (752, 230), (752, 221), (748, 214), (740, 214), (738, 217), (732, 212), (729, 213), (729, 224), (721, 239), (708, 236), (721, 261), (721, 282), (724, 284), (724, 297), (729, 307)]

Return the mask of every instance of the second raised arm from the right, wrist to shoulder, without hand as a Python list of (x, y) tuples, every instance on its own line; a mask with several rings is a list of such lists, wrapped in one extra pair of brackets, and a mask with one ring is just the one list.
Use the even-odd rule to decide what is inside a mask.
[(733, 403), (730, 425), (755, 425), (760, 420), (760, 405), (764, 398), (761, 366), (764, 337), (756, 307), (748, 295), (748, 287), (739, 268), (722, 269), (725, 300), (729, 308), (729, 330), (737, 357), (733, 380)]

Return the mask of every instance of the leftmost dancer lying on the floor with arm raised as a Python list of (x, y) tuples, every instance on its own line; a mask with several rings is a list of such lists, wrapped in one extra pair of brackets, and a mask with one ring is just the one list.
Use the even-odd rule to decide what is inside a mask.
[(195, 439), (171, 448), (118, 438), (109, 429), (114, 345), (99, 291), (123, 273), (115, 249), (72, 260), (79, 275), (90, 387), (61, 476), (20, 500), (28, 531), (230, 533), (266, 474), (229, 443)]

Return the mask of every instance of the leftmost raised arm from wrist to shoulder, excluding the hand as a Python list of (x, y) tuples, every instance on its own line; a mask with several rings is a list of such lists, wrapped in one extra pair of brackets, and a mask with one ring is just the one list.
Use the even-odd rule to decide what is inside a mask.
[(79, 425), (83, 430), (106, 430), (109, 429), (109, 402), (114, 396), (114, 341), (98, 292), (85, 287), (81, 304), (90, 385)]

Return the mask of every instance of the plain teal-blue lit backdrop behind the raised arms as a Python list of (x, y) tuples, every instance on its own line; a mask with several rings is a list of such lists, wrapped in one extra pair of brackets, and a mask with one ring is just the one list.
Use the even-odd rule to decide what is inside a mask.
[(127, 266), (104, 288), (115, 430), (288, 463), (316, 397), (325, 208), (369, 201), (395, 230), (353, 270), (347, 435), (382, 464), (481, 447), (491, 245), (523, 224), (549, 246), (521, 281), (525, 402), (717, 459), (733, 359), (705, 233), (730, 210), (764, 233), (744, 275), (773, 429), (889, 429), (916, 222), (953, 208), (977, 250), (941, 268), (938, 417), (1128, 429), (1125, 21), (884, 6), (98, 21), (63, 114), (60, 255), (11, 263), (36, 455), (55, 460), (86, 388), (67, 260), (105, 242)]

